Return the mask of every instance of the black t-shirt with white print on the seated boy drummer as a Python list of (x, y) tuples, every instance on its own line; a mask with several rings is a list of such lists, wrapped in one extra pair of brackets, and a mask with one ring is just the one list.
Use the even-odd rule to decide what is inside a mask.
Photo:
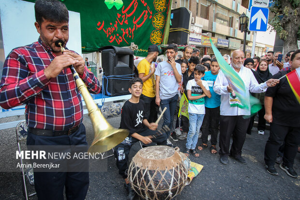
[(145, 110), (145, 102), (142, 99), (136, 104), (131, 103), (129, 100), (124, 103), (121, 113), (120, 128), (129, 130), (128, 137), (133, 133), (141, 133), (146, 129), (146, 126), (143, 124)]

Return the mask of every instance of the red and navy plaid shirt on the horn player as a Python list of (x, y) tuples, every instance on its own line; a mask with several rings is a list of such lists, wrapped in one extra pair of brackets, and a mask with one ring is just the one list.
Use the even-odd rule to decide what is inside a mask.
[[(68, 130), (83, 120), (83, 106), (73, 74), (64, 69), (48, 80), (44, 69), (56, 56), (39, 38), (38, 42), (13, 49), (7, 56), (0, 85), (4, 109), (26, 104), (29, 127)], [(80, 76), (92, 93), (100, 92), (98, 79), (85, 66)]]

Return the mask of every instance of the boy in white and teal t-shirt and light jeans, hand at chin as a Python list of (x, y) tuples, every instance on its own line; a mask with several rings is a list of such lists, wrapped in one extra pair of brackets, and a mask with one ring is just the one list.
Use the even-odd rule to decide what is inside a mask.
[(205, 80), (201, 80), (205, 75), (205, 66), (198, 64), (194, 69), (195, 78), (189, 80), (186, 85), (187, 98), (189, 100), (189, 132), (186, 139), (186, 150), (184, 154), (190, 155), (190, 152), (199, 157), (195, 150), (198, 142), (199, 130), (205, 115), (204, 97), (211, 97), (209, 85)]

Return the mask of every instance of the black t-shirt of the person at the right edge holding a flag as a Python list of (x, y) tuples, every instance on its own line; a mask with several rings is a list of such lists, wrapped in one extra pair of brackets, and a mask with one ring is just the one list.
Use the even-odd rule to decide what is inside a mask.
[[(280, 71), (271, 78), (278, 79), (289, 72), (290, 70)], [(300, 127), (300, 104), (288, 84), (286, 77), (280, 79), (280, 82), (276, 86), (268, 88), (265, 96), (273, 97), (273, 123)]]

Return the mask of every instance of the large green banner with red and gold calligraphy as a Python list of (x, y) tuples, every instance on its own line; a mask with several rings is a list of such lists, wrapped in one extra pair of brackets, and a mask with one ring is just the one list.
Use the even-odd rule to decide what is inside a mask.
[[(26, 0), (34, 2), (35, 0)], [(171, 0), (60, 0), (80, 13), (82, 52), (103, 46), (131, 46), (146, 56), (150, 45), (161, 45)]]

